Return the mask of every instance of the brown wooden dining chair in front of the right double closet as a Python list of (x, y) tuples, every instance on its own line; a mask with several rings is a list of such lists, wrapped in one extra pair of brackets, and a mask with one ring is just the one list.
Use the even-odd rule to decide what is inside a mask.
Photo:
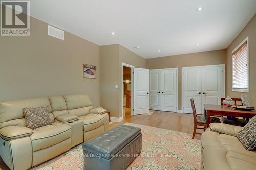
[[(207, 127), (207, 117), (205, 116), (197, 116), (197, 111), (196, 111), (196, 107), (195, 107), (195, 103), (194, 103), (194, 99), (191, 98), (190, 99), (191, 102), (191, 107), (192, 107), (192, 111), (193, 111), (193, 118), (194, 118), (194, 132), (193, 132), (193, 136), (192, 139), (194, 139), (195, 134), (202, 134), (202, 133), (197, 133), (197, 129), (203, 129), (205, 130)], [(211, 117), (210, 118), (210, 122), (218, 122), (221, 123), (220, 119), (217, 117)], [(204, 128), (199, 128), (197, 126), (203, 126)]]

